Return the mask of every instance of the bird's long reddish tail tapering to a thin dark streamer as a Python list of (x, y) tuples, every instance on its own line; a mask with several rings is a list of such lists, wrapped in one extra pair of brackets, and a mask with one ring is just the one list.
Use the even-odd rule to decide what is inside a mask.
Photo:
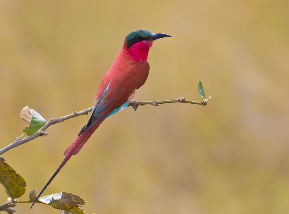
[(71, 156), (76, 155), (80, 149), (83, 147), (83, 145), (86, 143), (86, 141), (90, 138), (90, 136), (93, 134), (93, 132), (98, 128), (98, 126), (101, 124), (102, 121), (99, 121), (98, 123), (94, 124), (91, 128), (89, 128), (86, 132), (81, 134), (80, 136), (77, 136), (77, 138), (70, 144), (70, 146), (65, 150), (64, 154), (65, 157), (62, 160), (61, 164), (58, 166), (55, 173), (52, 175), (52, 177), (49, 179), (47, 184), (44, 186), (44, 188), (41, 190), (39, 195), (37, 196), (36, 200), (33, 202), (30, 208), (33, 207), (35, 202), (38, 200), (38, 198), (41, 196), (41, 194), (44, 192), (44, 190), (48, 187), (48, 185), (51, 183), (51, 181), (55, 178), (55, 176), (59, 173), (59, 171), (62, 169), (62, 167), (66, 164), (66, 162), (71, 158)]

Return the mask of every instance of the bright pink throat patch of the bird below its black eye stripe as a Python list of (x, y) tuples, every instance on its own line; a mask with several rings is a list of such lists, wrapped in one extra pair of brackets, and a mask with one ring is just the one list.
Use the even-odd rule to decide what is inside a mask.
[(140, 41), (133, 44), (129, 49), (129, 54), (136, 61), (144, 60), (147, 61), (147, 55), (149, 53), (149, 48), (153, 45), (153, 41)]

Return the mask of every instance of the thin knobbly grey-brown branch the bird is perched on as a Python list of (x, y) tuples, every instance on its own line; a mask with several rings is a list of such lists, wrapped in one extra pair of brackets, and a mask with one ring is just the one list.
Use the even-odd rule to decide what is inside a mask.
[[(197, 105), (207, 105), (208, 104), (208, 99), (204, 99), (203, 101), (201, 102), (196, 102), (196, 101), (187, 101), (185, 98), (180, 98), (180, 99), (177, 99), (177, 100), (166, 100), (166, 101), (157, 101), (157, 100), (153, 100), (153, 101), (143, 101), (143, 102), (137, 102), (137, 101), (131, 101), (131, 103), (128, 105), (128, 106), (132, 106), (134, 110), (137, 109), (138, 106), (140, 105), (154, 105), (154, 106), (158, 106), (160, 104), (164, 104), (164, 103), (191, 103), (191, 104), (197, 104)], [(55, 124), (55, 123), (60, 123), (64, 120), (68, 120), (68, 119), (71, 119), (71, 118), (75, 118), (79, 115), (84, 115), (84, 114), (88, 114), (88, 112), (92, 111), (92, 107), (89, 108), (89, 109), (85, 109), (85, 110), (82, 110), (82, 111), (75, 111), (71, 114), (68, 114), (66, 116), (63, 116), (63, 117), (60, 117), (60, 118), (56, 118), (56, 119), (53, 119), (51, 118), (44, 126), (42, 126), (36, 133), (34, 133), (33, 135), (25, 138), (25, 139), (21, 139), (21, 137), (18, 137), (16, 139), (16, 141), (14, 141), (13, 143), (11, 143), (10, 145), (4, 147), (3, 149), (0, 150), (0, 155), (5, 153), (6, 151), (14, 148), (14, 147), (17, 147), (19, 145), (22, 145), (24, 143), (27, 143), (28, 141), (31, 141), (37, 137), (40, 137), (40, 136), (46, 136), (48, 135), (45, 130)]]

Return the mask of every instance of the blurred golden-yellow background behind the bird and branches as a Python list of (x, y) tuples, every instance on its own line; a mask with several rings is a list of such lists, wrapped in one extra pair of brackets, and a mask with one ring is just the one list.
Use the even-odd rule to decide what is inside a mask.
[[(289, 1), (0, 1), (1, 148), (22, 135), (26, 105), (48, 121), (91, 107), (133, 30), (155, 41), (135, 100), (108, 118), (45, 194), (72, 192), (86, 213), (289, 213)], [(6, 152), (42, 189), (89, 116)], [(7, 200), (4, 188), (0, 203)], [(17, 204), (16, 213), (60, 213)]]

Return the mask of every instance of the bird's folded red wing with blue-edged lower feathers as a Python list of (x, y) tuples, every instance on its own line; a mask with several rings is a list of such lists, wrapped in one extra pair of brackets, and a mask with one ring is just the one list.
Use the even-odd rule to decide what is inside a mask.
[[(97, 92), (92, 115), (79, 135), (95, 123), (105, 120), (126, 104), (134, 90), (139, 89), (147, 80), (149, 63), (134, 62), (126, 69), (112, 72), (111, 69), (103, 77)], [(128, 103), (127, 103), (128, 105)]]

